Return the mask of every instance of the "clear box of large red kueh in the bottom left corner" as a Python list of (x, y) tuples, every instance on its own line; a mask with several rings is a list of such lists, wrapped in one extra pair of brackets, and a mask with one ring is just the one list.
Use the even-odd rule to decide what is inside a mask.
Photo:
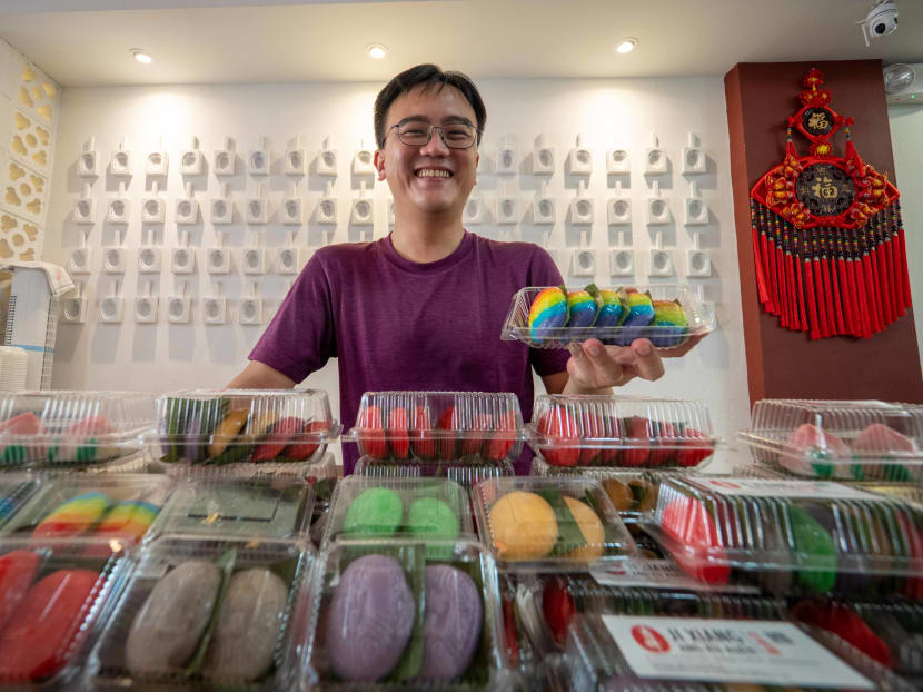
[(98, 538), (0, 540), (0, 689), (73, 690), (126, 573)]

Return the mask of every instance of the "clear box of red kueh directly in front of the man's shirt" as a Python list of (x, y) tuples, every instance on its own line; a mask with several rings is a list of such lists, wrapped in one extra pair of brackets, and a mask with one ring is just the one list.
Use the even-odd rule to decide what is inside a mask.
[(509, 393), (366, 392), (343, 439), (376, 461), (512, 463), (523, 451), (523, 414)]

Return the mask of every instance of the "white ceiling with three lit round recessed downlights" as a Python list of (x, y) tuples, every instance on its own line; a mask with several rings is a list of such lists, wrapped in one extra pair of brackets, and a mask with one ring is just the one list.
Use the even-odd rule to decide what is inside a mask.
[[(182, 4), (183, 8), (177, 6)], [(872, 0), (0, 0), (0, 38), (63, 86), (723, 75), (736, 62), (923, 62), (923, 1), (866, 48)], [(113, 7), (130, 8), (113, 10)], [(67, 11), (62, 11), (67, 9)], [(619, 56), (617, 39), (637, 37)], [(369, 43), (388, 57), (368, 58)], [(129, 49), (155, 61), (141, 66)]]

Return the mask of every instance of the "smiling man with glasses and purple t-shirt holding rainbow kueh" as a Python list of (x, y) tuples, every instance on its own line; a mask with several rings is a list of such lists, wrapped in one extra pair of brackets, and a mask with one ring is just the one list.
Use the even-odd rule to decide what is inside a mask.
[[(337, 357), (348, 428), (364, 392), (513, 392), (528, 421), (532, 368), (550, 393), (603, 393), (663, 376), (647, 339), (631, 347), (590, 339), (573, 355), (500, 340), (516, 290), (563, 279), (538, 246), (488, 240), (462, 225), (486, 117), (474, 83), (434, 65), (401, 72), (380, 91), (375, 166), (394, 196), (394, 230), (319, 249), (229, 387), (294, 387)], [(356, 457), (344, 445), (344, 473)]]

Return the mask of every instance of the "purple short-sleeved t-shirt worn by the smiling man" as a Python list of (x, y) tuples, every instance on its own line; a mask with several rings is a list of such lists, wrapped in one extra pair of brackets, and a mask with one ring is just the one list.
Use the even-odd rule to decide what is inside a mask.
[[(389, 389), (513, 392), (529, 421), (530, 367), (562, 373), (569, 354), (500, 340), (500, 327), (518, 289), (562, 283), (537, 245), (467, 231), (451, 255), (427, 264), (398, 255), (390, 237), (333, 245), (311, 257), (250, 359), (301, 382), (338, 358), (345, 429), (365, 392)], [(343, 449), (351, 473), (358, 451)]]

